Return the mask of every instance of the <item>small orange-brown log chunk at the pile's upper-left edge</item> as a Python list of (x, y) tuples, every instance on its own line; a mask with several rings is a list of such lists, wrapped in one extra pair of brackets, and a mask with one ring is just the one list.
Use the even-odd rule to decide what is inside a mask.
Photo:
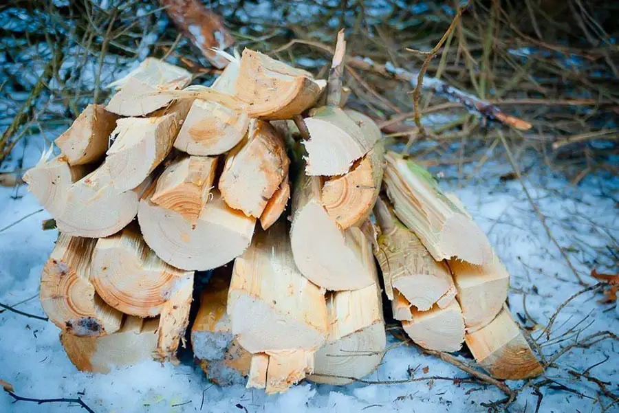
[(106, 111), (102, 104), (89, 104), (54, 142), (70, 165), (99, 161), (105, 156), (117, 119), (118, 115)]

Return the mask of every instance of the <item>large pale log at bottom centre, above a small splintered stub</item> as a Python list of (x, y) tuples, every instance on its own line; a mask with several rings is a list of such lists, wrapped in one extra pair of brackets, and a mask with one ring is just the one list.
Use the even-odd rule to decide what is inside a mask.
[(228, 315), (232, 333), (250, 353), (315, 351), (325, 342), (325, 297), (294, 265), (285, 227), (280, 220), (254, 234), (232, 270)]

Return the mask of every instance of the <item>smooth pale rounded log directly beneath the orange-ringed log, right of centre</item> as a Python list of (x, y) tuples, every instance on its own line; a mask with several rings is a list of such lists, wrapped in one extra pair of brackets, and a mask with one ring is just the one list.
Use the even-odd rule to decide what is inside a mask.
[(328, 290), (356, 290), (373, 284), (373, 256), (358, 227), (342, 231), (321, 202), (320, 178), (301, 172), (292, 198), (290, 243), (301, 274)]

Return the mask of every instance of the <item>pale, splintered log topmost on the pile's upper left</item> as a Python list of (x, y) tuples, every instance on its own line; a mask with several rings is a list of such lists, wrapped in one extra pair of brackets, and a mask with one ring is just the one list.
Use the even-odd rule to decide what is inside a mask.
[(146, 58), (140, 66), (110, 86), (120, 87), (105, 109), (121, 116), (143, 116), (173, 100), (170, 93), (191, 83), (191, 73), (156, 58)]

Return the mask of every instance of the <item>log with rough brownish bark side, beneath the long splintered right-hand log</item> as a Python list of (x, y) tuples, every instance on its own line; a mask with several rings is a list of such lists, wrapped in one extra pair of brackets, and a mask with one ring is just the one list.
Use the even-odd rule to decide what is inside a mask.
[(432, 258), (420, 239), (395, 216), (387, 199), (376, 201), (374, 216), (381, 230), (374, 255), (387, 297), (394, 300), (392, 291), (397, 289), (420, 311), (434, 304), (448, 306), (455, 299), (456, 289), (444, 261)]

